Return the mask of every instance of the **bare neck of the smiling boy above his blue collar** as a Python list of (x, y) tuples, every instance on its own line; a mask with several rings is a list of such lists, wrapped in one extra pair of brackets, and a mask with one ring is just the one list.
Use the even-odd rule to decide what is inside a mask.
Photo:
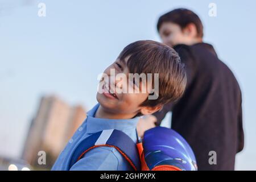
[(135, 114), (117, 114), (105, 110), (101, 105), (98, 107), (94, 117), (104, 119), (131, 119)]

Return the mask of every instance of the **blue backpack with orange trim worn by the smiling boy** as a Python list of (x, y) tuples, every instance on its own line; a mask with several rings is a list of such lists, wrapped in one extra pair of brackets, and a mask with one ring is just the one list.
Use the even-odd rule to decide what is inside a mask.
[[(138, 137), (137, 137), (138, 138)], [(154, 127), (134, 141), (119, 130), (103, 130), (85, 138), (73, 152), (71, 168), (96, 147), (114, 147), (135, 171), (196, 171), (195, 155), (181, 135), (166, 127)]]

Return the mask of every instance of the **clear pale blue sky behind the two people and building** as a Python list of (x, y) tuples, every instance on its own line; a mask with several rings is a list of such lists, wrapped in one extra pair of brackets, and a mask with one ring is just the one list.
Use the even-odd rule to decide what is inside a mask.
[[(46, 3), (46, 17), (38, 3)], [(217, 5), (217, 17), (208, 5)], [(237, 169), (256, 169), (256, 1), (0, 0), (0, 154), (19, 156), (40, 96), (96, 104), (97, 75), (135, 40), (160, 40), (158, 17), (192, 9), (205, 42), (234, 72), (243, 92), (245, 150)]]

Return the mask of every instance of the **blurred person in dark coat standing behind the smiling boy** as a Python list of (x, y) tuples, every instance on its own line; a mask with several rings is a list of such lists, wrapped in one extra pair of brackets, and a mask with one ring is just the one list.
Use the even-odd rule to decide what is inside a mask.
[[(179, 53), (188, 82), (179, 101), (139, 121), (139, 134), (142, 137), (154, 122), (160, 125), (172, 111), (171, 128), (191, 145), (199, 170), (233, 170), (235, 156), (243, 149), (242, 96), (236, 77), (212, 45), (203, 42), (203, 24), (191, 10), (160, 16), (157, 29), (162, 42)], [(209, 159), (212, 154), (215, 159)]]

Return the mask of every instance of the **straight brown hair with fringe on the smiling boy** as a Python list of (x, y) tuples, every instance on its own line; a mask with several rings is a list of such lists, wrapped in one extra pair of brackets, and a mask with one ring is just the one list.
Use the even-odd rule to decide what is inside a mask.
[(126, 46), (118, 59), (127, 60), (130, 73), (159, 73), (159, 95), (156, 100), (145, 100), (141, 106), (164, 105), (178, 100), (185, 90), (187, 77), (184, 64), (177, 52), (165, 44), (152, 40), (140, 40)]

